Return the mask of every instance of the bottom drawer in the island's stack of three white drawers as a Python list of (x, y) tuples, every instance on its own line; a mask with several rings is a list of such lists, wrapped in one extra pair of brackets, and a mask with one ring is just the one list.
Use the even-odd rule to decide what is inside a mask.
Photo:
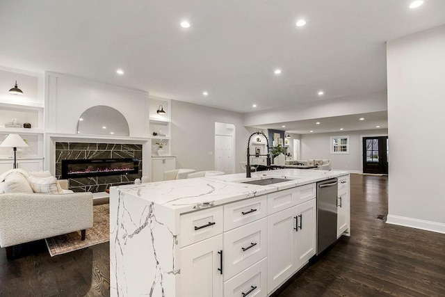
[[(224, 283), (224, 297), (267, 296), (267, 258)], [(249, 293), (250, 292), (250, 293)]]

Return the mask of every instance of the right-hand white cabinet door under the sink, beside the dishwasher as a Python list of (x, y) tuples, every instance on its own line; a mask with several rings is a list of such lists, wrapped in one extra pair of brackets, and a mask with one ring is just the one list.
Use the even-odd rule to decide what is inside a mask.
[(316, 200), (297, 205), (297, 268), (305, 265), (316, 252)]

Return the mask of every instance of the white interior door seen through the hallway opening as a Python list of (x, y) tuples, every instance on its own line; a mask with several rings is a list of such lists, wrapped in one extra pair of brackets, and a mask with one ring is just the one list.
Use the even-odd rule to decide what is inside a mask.
[(233, 137), (215, 136), (215, 170), (233, 173)]

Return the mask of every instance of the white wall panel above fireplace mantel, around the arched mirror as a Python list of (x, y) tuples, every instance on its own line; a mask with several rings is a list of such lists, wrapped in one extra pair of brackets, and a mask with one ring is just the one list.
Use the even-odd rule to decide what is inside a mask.
[(48, 72), (46, 97), (47, 131), (75, 134), (83, 111), (92, 106), (106, 105), (124, 115), (131, 137), (149, 136), (147, 92)]

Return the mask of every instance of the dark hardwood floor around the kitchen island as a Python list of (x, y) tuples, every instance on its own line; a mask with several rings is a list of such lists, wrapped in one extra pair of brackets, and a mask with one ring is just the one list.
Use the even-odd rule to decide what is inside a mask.
[[(275, 296), (445, 296), (445, 234), (385, 224), (387, 177), (351, 175), (350, 238)], [(0, 296), (109, 296), (109, 244), (50, 257), (44, 241), (0, 249)]]

